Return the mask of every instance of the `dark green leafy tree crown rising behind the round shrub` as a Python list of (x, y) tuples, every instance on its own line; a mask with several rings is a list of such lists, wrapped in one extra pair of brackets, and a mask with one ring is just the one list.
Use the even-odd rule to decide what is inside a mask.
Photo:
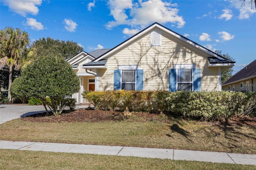
[(33, 47), (38, 50), (38, 56), (56, 55), (68, 59), (83, 50), (76, 42), (54, 40), (50, 37), (40, 38), (33, 42)]

